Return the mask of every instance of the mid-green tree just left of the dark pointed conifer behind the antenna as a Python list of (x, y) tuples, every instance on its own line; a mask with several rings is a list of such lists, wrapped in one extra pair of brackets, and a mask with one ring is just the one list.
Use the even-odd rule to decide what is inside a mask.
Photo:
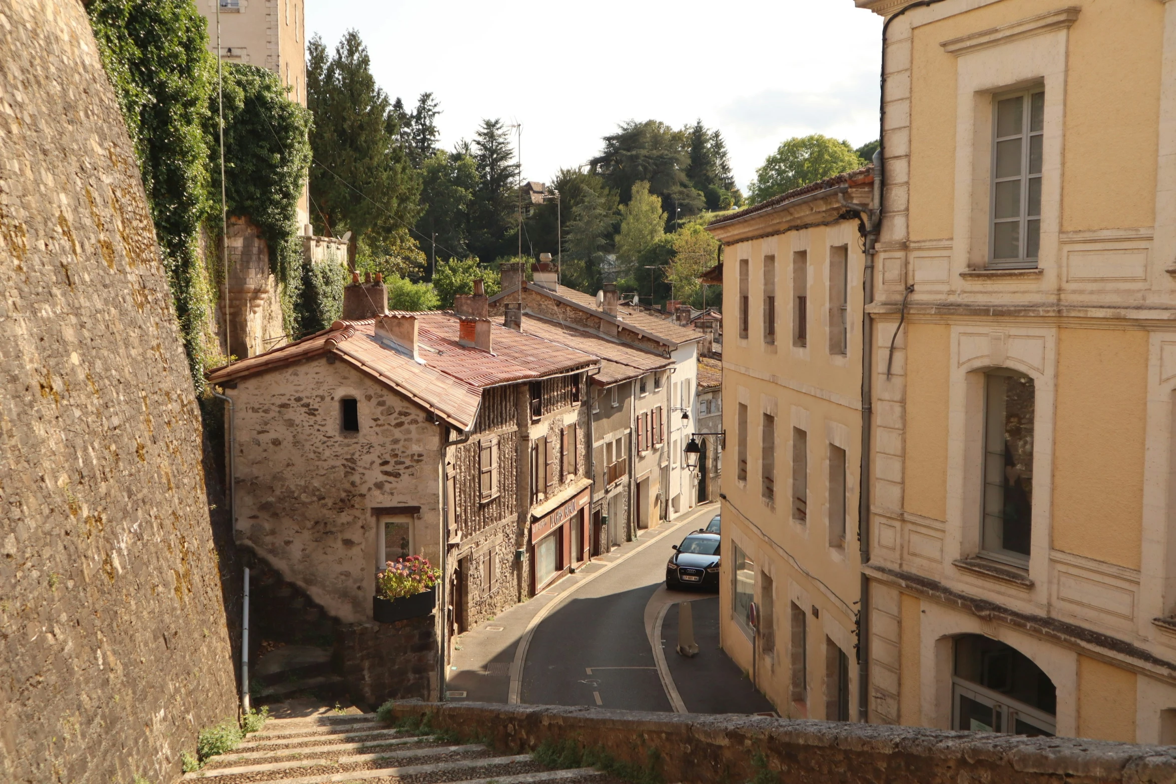
[(467, 213), (477, 190), (477, 165), (470, 155), (436, 150), (421, 166), (421, 205), (425, 212), (416, 221), (417, 236), (432, 253), (436, 236), (437, 250), (447, 256), (469, 255)]

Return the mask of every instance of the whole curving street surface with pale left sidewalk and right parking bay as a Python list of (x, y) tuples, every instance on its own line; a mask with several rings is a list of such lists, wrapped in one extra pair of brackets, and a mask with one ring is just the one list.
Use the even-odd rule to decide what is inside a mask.
[[(460, 635), (454, 641), (447, 699), (771, 711), (719, 648), (719, 597), (668, 591), (664, 585), (670, 545), (706, 525), (716, 511), (717, 504), (704, 504), (642, 531), (636, 542), (594, 558), (543, 594)], [(700, 654), (693, 659), (674, 651), (682, 601), (696, 601)]]

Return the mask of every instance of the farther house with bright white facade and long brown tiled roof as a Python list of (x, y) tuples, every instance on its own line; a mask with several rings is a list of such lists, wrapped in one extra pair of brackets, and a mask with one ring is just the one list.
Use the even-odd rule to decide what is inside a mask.
[[(490, 310), (505, 313), (509, 304), (527, 316), (556, 322), (587, 334), (626, 343), (671, 360), (664, 370), (637, 380), (634, 421), (640, 428), (633, 471), (636, 527), (673, 520), (695, 505), (695, 477), (686, 468), (682, 450), (690, 440), (696, 417), (696, 380), (701, 333), (623, 306), (616, 287), (606, 284), (597, 296), (556, 281), (554, 264), (535, 264), (534, 281), (522, 280), (522, 267), (501, 268), (502, 290), (490, 297)], [(636, 429), (635, 428), (635, 429)]]

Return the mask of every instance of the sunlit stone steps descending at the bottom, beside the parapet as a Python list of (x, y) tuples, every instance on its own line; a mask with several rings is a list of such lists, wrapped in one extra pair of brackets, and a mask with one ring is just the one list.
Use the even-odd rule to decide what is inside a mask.
[(233, 751), (185, 773), (183, 780), (188, 779), (214, 784), (620, 784), (592, 768), (548, 770), (530, 755), (500, 756), (482, 743), (393, 729), (375, 713), (272, 718)]

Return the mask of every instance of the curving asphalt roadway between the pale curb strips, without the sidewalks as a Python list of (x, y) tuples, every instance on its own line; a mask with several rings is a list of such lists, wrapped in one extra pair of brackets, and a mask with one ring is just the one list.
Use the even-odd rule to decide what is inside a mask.
[[(688, 518), (689, 520), (689, 518)], [(690, 521), (577, 589), (535, 629), (521, 702), (670, 711), (646, 636), (646, 605)]]

